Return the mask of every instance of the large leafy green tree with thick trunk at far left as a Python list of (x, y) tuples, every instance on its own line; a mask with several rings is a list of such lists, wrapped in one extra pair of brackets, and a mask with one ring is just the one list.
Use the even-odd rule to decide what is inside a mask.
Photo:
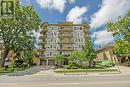
[(10, 50), (20, 56), (21, 51), (34, 49), (35, 38), (32, 32), (39, 29), (40, 18), (32, 6), (21, 6), (19, 0), (14, 1), (15, 18), (0, 19), (0, 37), (4, 49), (1, 66), (4, 66)]

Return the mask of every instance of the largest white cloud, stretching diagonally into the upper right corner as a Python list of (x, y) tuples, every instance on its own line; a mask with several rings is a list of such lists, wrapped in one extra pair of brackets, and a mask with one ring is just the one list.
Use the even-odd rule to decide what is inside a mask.
[(90, 26), (96, 28), (115, 21), (130, 10), (130, 0), (102, 0), (102, 5), (91, 18)]

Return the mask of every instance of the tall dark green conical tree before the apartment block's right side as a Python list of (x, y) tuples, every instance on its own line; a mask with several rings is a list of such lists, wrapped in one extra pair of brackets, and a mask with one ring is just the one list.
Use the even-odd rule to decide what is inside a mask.
[(85, 59), (84, 61), (88, 61), (89, 62), (89, 67), (92, 66), (92, 62), (93, 60), (96, 58), (96, 52), (93, 48), (93, 44), (91, 41), (86, 41), (85, 44), (82, 47), (82, 51), (85, 55)]

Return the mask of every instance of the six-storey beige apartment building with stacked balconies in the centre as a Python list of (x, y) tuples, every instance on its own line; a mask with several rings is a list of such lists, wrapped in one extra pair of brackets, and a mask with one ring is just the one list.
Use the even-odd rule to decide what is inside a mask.
[(72, 51), (81, 50), (85, 40), (89, 39), (88, 24), (73, 24), (72, 22), (61, 22), (57, 24), (41, 25), (41, 65), (54, 65), (54, 57), (57, 53), (67, 57)]

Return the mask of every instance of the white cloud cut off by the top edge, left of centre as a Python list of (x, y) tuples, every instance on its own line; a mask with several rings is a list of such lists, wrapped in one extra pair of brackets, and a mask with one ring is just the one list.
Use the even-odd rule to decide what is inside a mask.
[(75, 0), (37, 0), (37, 3), (41, 8), (47, 8), (49, 10), (57, 10), (63, 12), (66, 3), (74, 3)]

